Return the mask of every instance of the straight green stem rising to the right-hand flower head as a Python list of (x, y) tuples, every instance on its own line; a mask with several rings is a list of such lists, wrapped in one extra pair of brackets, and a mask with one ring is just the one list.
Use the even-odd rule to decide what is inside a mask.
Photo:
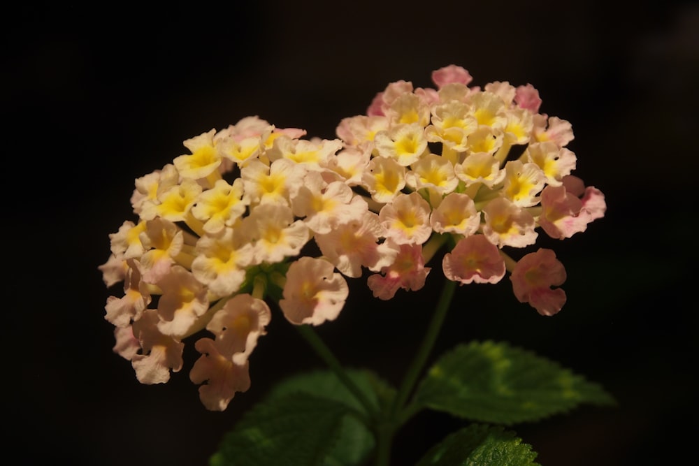
[(422, 340), (415, 358), (413, 358), (410, 367), (408, 367), (408, 372), (406, 372), (403, 378), (403, 383), (401, 387), (398, 388), (398, 395), (394, 399), (393, 405), (391, 405), (391, 418), (396, 419), (398, 412), (403, 409), (405, 402), (408, 400), (408, 396), (415, 388), (417, 383), (417, 377), (419, 377), (422, 372), (427, 358), (437, 341), (437, 335), (442, 328), (442, 323), (444, 323), (445, 316), (449, 310), (449, 305), (452, 303), (452, 298), (454, 297), (454, 290), (456, 290), (456, 282), (452, 280), (446, 280), (444, 287), (442, 288), (442, 295), (439, 298), (437, 307), (435, 307), (434, 314), (432, 315), (432, 320), (429, 323), (427, 332)]

